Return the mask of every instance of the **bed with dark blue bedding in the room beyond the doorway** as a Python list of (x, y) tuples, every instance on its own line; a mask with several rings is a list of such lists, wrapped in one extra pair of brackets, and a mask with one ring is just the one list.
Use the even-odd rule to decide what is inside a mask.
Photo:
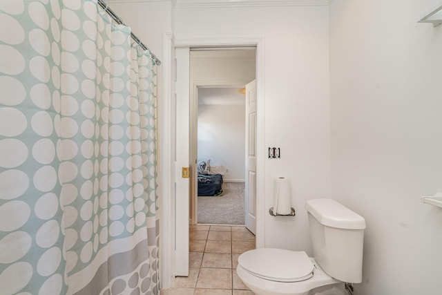
[(210, 165), (210, 160), (198, 162), (198, 196), (222, 196), (222, 165)]

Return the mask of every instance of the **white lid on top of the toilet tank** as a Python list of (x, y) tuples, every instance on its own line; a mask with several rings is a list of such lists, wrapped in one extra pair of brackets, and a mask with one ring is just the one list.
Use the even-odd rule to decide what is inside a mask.
[(327, 227), (365, 229), (365, 219), (332, 199), (307, 200), (305, 209)]

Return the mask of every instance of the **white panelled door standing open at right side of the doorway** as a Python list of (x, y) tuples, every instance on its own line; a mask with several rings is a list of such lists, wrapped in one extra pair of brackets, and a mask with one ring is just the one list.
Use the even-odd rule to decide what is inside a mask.
[(256, 80), (246, 85), (245, 225), (256, 234)]

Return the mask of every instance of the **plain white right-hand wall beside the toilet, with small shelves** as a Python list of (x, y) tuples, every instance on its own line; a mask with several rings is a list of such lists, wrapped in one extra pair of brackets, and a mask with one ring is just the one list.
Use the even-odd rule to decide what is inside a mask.
[(442, 290), (440, 1), (330, 5), (333, 197), (367, 221), (359, 295)]

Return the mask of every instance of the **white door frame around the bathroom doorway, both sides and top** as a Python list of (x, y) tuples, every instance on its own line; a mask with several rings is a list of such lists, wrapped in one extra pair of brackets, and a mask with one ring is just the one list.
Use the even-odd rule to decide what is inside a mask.
[[(171, 49), (180, 47), (231, 47), (231, 46), (256, 46), (256, 95), (257, 95), (257, 124), (256, 124), (256, 248), (265, 247), (265, 39), (264, 37), (231, 37), (222, 39), (195, 38), (174, 39), (173, 35), (166, 33), (163, 36), (163, 97), (160, 106), (162, 117), (159, 118), (160, 128), (165, 134), (160, 141), (160, 169), (162, 184), (160, 184), (160, 267), (162, 267), (160, 287), (168, 289), (172, 286), (175, 276), (175, 167), (171, 151), (175, 151), (175, 130), (173, 122), (175, 117), (167, 106), (174, 106), (175, 93), (173, 75), (175, 62)], [(170, 116), (171, 115), (171, 116)]]

